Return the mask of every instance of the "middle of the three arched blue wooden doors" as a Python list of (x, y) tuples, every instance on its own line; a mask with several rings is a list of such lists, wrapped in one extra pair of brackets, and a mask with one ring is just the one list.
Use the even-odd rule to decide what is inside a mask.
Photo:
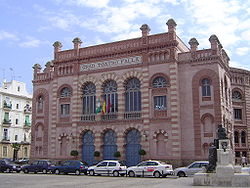
[(116, 134), (112, 130), (108, 130), (104, 134), (103, 159), (116, 159), (114, 153), (117, 151)]

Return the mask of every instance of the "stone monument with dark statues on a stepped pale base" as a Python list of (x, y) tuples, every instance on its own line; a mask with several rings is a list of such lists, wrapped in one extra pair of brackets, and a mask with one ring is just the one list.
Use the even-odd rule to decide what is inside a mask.
[[(206, 172), (194, 175), (194, 185), (249, 187), (250, 175), (241, 172), (240, 166), (234, 165), (233, 151), (226, 129), (218, 126), (218, 139), (209, 149), (209, 165)], [(215, 152), (216, 150), (216, 152)], [(215, 154), (216, 153), (216, 154)]]

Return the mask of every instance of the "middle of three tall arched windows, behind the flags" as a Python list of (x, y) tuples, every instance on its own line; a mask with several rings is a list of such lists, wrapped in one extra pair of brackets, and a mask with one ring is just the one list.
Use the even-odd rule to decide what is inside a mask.
[(103, 98), (106, 102), (106, 113), (118, 112), (117, 84), (111, 80), (105, 83), (103, 88)]

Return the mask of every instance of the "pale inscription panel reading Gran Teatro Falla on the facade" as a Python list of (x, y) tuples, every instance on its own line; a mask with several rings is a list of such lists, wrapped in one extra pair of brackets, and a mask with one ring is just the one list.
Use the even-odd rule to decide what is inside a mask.
[(81, 64), (80, 71), (90, 71), (90, 70), (98, 70), (98, 69), (107, 69), (111, 67), (120, 67), (120, 66), (127, 66), (127, 65), (136, 65), (141, 64), (141, 56), (134, 56), (134, 57), (127, 57), (122, 59), (115, 59), (109, 61), (101, 61), (96, 63), (90, 64)]

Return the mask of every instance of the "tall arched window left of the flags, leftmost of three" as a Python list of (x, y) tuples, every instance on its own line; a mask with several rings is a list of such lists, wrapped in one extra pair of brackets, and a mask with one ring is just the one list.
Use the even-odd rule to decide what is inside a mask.
[(83, 114), (95, 114), (96, 109), (96, 87), (88, 83), (83, 88)]

